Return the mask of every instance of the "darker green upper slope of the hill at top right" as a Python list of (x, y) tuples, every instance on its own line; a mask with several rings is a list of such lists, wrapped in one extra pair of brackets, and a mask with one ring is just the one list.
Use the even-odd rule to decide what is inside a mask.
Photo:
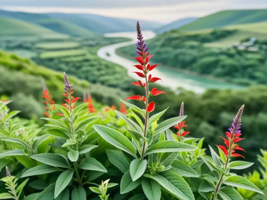
[(212, 29), (234, 24), (267, 21), (265, 10), (225, 10), (207, 15), (180, 28), (181, 31)]

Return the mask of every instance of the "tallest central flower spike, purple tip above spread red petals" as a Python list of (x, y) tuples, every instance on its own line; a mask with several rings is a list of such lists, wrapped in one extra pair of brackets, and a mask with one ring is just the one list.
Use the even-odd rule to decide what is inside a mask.
[(146, 47), (146, 44), (144, 42), (144, 38), (143, 38), (143, 35), (141, 32), (141, 27), (140, 27), (138, 21), (136, 23), (136, 31), (137, 31), (137, 39), (138, 39), (138, 41), (136, 43), (136, 48), (138, 51), (136, 51), (136, 53), (138, 55), (140, 55), (140, 57), (135, 57), (136, 61), (139, 62), (139, 65), (133, 65), (133, 66), (136, 67), (141, 72), (135, 71), (133, 73), (136, 73), (141, 78), (145, 78), (145, 82), (142, 83), (142, 81), (138, 80), (138, 82), (133, 82), (131, 84), (136, 85), (136, 86), (140, 86), (141, 88), (146, 88), (146, 97), (144, 97), (144, 96), (141, 97), (141, 95), (134, 95), (134, 96), (126, 98), (125, 100), (132, 99), (132, 100), (145, 102), (146, 103), (146, 111), (152, 112), (155, 109), (155, 103), (154, 103), (154, 101), (152, 101), (148, 104), (148, 97), (149, 96), (156, 96), (156, 95), (159, 95), (162, 93), (166, 94), (166, 93), (164, 91), (158, 91), (157, 88), (152, 89), (150, 92), (148, 91), (148, 84), (149, 83), (154, 83), (158, 80), (161, 80), (158, 77), (152, 77), (151, 74), (148, 75), (148, 73), (151, 70), (155, 69), (160, 64), (157, 64), (157, 65), (148, 64), (148, 61), (154, 55), (149, 55), (149, 52), (147, 52), (148, 47)]

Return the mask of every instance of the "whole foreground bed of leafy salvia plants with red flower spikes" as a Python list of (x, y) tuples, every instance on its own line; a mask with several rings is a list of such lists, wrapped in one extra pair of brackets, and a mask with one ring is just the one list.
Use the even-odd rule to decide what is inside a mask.
[[(134, 73), (142, 80), (131, 84), (144, 93), (121, 100), (119, 111), (114, 105), (95, 107), (90, 94), (80, 103), (65, 73), (60, 105), (42, 80), (44, 127), (15, 118), (19, 111), (10, 112), (10, 101), (0, 101), (0, 170), (9, 167), (2, 175), (0, 199), (242, 200), (239, 193), (244, 190), (264, 195), (231, 171), (253, 165), (236, 160), (244, 159), (239, 153), (245, 151), (239, 146), (244, 105), (222, 137), (225, 145), (218, 150), (209, 146), (211, 156), (202, 147), (204, 138), (190, 137), (186, 130), (184, 103), (177, 117), (160, 120), (167, 108), (152, 114), (155, 96), (167, 94), (152, 87), (161, 80), (150, 73), (159, 64), (149, 64), (154, 55), (148, 52), (139, 22), (136, 28)], [(265, 157), (258, 157), (264, 177)]]

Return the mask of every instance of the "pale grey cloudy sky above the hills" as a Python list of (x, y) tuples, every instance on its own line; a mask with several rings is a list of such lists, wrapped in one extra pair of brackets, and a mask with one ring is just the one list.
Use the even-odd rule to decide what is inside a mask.
[(0, 8), (33, 13), (92, 13), (168, 23), (226, 9), (264, 9), (266, 0), (0, 0)]

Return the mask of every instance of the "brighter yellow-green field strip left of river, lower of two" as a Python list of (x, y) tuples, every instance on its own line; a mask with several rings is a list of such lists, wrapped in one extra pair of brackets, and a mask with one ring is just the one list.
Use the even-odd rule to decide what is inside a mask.
[(46, 51), (40, 54), (40, 58), (59, 58), (59, 57), (67, 57), (67, 56), (78, 56), (85, 55), (87, 51), (84, 49), (73, 49), (73, 50), (62, 50), (62, 51)]

